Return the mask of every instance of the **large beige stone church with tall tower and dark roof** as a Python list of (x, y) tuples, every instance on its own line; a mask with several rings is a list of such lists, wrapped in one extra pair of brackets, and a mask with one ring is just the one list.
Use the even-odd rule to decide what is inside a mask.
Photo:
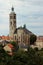
[(18, 43), (19, 47), (25, 47), (30, 44), (30, 36), (33, 35), (31, 31), (23, 27), (16, 27), (16, 13), (14, 8), (11, 8), (11, 13), (9, 14), (9, 36)]

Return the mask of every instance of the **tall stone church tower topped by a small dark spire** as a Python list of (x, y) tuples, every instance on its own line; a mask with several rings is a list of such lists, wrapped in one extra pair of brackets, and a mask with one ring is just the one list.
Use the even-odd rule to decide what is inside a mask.
[(13, 37), (14, 36), (14, 32), (15, 32), (15, 30), (16, 30), (16, 14), (15, 14), (15, 12), (14, 12), (14, 8), (12, 7), (11, 8), (11, 13), (10, 13), (10, 15), (9, 15), (9, 21), (10, 21), (10, 23), (9, 23), (9, 36), (10, 37)]

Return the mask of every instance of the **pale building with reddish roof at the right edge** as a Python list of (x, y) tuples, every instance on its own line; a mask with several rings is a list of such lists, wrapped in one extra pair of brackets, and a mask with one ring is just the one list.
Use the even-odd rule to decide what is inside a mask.
[(30, 47), (33, 49), (37, 47), (39, 50), (43, 48), (43, 36), (38, 36), (35, 45), (31, 45)]

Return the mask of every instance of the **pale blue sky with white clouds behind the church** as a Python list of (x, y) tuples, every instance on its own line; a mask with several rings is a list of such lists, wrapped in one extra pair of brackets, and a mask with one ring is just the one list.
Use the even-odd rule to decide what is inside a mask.
[(17, 27), (26, 24), (26, 28), (37, 36), (43, 35), (43, 0), (0, 0), (0, 36), (9, 34), (12, 6)]

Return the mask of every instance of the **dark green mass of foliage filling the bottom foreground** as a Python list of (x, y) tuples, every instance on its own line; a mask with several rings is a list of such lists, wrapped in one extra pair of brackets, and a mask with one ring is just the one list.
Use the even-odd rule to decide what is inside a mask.
[(0, 65), (43, 65), (43, 51), (29, 47), (26, 52), (18, 50), (10, 56), (0, 48)]

